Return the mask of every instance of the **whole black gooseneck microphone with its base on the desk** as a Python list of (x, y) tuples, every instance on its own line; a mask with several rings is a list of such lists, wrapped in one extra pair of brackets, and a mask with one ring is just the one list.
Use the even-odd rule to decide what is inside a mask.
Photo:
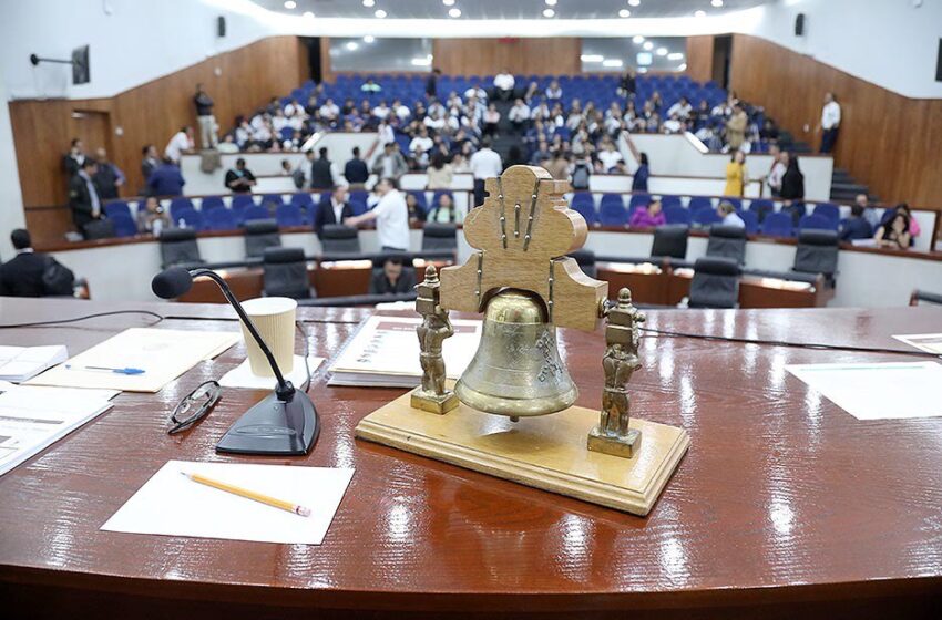
[(209, 278), (219, 287), (226, 301), (236, 311), (238, 318), (252, 334), (253, 340), (268, 360), (278, 384), (274, 393), (255, 404), (243, 415), (223, 438), (216, 444), (216, 452), (235, 454), (275, 454), (299, 455), (310, 452), (320, 434), (317, 410), (310, 397), (298, 392), (290, 381), (286, 381), (272, 350), (255, 323), (246, 314), (242, 303), (235, 298), (226, 281), (212, 269), (184, 269), (172, 267), (154, 276), (151, 290), (161, 299), (175, 299), (193, 287), (193, 279)]

